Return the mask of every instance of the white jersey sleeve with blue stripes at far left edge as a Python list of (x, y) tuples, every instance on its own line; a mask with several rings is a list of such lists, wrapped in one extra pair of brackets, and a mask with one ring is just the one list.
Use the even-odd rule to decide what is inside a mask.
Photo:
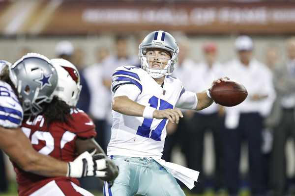
[(11, 86), (0, 81), (0, 126), (16, 128), (23, 120), (23, 109)]

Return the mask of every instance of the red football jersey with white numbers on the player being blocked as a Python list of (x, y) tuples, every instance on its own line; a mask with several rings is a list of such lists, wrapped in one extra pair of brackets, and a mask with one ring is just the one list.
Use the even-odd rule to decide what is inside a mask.
[[(82, 110), (71, 109), (73, 119), (69, 123), (46, 124), (42, 115), (34, 119), (24, 119), (22, 130), (30, 139), (34, 149), (39, 153), (50, 155), (57, 159), (69, 162), (77, 157), (75, 140), (77, 137), (91, 138), (96, 136), (95, 125), (89, 116)], [(14, 162), (16, 181), (19, 196), (29, 196), (52, 180), (70, 180), (77, 185), (79, 181), (70, 177), (44, 177), (25, 172)]]

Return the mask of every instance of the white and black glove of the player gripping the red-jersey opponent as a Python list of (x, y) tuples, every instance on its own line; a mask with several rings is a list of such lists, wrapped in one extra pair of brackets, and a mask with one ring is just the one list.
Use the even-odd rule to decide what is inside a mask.
[(66, 176), (77, 178), (86, 176), (107, 176), (106, 171), (101, 171), (108, 167), (105, 155), (95, 154), (92, 156), (92, 154), (93, 152), (90, 154), (88, 151), (85, 151), (74, 161), (68, 162), (68, 172)]

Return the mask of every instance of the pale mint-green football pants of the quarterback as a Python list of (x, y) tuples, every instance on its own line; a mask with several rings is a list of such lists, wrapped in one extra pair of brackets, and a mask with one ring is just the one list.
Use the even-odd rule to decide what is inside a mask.
[(176, 179), (153, 159), (111, 156), (119, 175), (104, 196), (185, 196)]

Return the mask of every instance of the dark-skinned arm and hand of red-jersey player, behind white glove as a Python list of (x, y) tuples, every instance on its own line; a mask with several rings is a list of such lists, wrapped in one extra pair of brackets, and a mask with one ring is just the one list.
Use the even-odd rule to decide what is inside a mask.
[[(99, 146), (99, 144), (94, 140), (93, 137), (92, 138), (78, 137), (75, 140), (75, 147), (76, 147), (76, 151), (78, 154), (82, 154), (85, 151), (90, 151), (92, 149), (96, 149), (96, 153), (101, 153), (105, 157), (107, 157), (107, 155), (105, 154), (103, 149)], [(109, 184), (110, 184), (118, 176), (119, 170), (118, 170), (118, 167), (115, 165), (115, 163), (111, 159), (106, 158), (106, 162), (107, 162), (107, 168), (102, 171), (106, 171), (107, 176), (101, 177), (101, 179), (109, 182)]]

